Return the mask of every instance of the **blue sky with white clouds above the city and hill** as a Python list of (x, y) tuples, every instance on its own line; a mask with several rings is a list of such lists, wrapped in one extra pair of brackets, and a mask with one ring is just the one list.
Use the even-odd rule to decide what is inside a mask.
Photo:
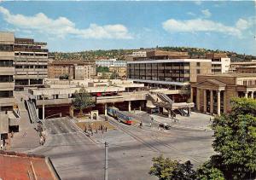
[(253, 1), (1, 1), (0, 31), (50, 51), (183, 46), (256, 55)]

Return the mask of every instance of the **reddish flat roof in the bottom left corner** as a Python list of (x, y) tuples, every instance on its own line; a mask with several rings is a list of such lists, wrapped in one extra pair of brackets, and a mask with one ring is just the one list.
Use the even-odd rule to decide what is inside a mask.
[(0, 151), (0, 179), (59, 179), (44, 156)]

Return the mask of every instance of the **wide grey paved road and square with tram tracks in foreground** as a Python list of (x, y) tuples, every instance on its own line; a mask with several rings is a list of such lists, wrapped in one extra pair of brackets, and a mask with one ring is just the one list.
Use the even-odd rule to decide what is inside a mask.
[(104, 177), (104, 146), (109, 142), (108, 179), (156, 179), (148, 175), (152, 158), (160, 154), (172, 160), (191, 160), (199, 165), (212, 154), (212, 134), (205, 131), (152, 131), (111, 120), (117, 130), (91, 136), (70, 119), (46, 119), (47, 142), (34, 154), (49, 156), (61, 179), (97, 179)]

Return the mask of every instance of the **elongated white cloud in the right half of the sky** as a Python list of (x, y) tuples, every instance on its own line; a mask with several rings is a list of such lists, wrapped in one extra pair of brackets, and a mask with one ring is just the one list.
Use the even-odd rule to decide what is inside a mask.
[[(166, 20), (162, 23), (166, 32), (220, 32), (241, 38), (241, 31), (252, 26), (247, 20), (239, 19), (236, 26), (225, 26), (212, 20)], [(241, 27), (242, 26), (242, 27)]]

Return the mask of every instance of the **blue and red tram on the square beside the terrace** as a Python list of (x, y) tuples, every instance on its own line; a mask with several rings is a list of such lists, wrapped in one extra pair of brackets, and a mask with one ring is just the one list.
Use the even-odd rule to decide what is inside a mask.
[(134, 119), (128, 113), (119, 111), (119, 109), (116, 107), (108, 107), (107, 113), (113, 118), (118, 119), (119, 122), (123, 122), (126, 125), (132, 125), (134, 123)]

